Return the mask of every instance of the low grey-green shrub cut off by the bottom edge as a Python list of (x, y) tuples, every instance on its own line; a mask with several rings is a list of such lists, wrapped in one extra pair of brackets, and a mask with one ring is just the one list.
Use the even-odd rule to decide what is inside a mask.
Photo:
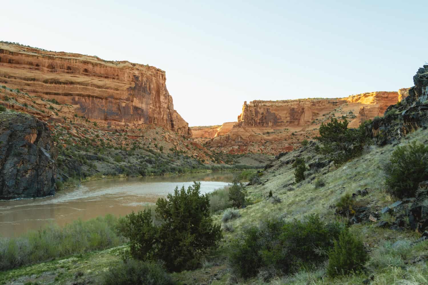
[(161, 264), (127, 259), (104, 273), (103, 285), (173, 285)]

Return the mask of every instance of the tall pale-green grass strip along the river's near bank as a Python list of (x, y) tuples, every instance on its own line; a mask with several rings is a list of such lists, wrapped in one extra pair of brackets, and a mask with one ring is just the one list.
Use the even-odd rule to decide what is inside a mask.
[(106, 215), (64, 227), (51, 224), (17, 238), (0, 238), (0, 270), (124, 244), (117, 226), (118, 218)]

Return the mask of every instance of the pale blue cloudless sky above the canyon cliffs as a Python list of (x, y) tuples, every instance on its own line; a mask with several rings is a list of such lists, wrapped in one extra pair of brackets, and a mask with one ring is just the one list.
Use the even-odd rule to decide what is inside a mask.
[(1, 6), (0, 40), (166, 71), (174, 108), (189, 126), (236, 121), (244, 101), (397, 91), (413, 86), (428, 62), (428, 2), (421, 0)]

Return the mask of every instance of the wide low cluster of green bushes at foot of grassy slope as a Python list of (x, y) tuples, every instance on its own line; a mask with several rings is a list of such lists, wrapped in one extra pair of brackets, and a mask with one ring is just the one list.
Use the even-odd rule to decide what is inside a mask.
[(324, 223), (317, 215), (303, 221), (265, 220), (232, 241), (229, 264), (243, 278), (261, 272), (266, 279), (294, 273), (301, 266), (325, 261), (340, 230), (338, 223)]

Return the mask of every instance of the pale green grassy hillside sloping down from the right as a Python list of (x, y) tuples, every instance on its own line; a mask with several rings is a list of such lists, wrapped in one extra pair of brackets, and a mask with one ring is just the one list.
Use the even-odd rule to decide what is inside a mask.
[[(241, 284), (428, 284), (428, 241), (412, 245), (420, 234), (410, 229), (396, 231), (389, 228), (377, 227), (377, 222), (363, 220), (350, 226), (354, 235), (359, 236), (369, 253), (370, 260), (365, 264), (366, 270), (344, 276), (338, 279), (327, 277), (323, 266), (317, 268), (302, 268), (299, 273), (271, 279), (264, 282), (253, 278), (236, 280), (228, 270), (227, 254), (229, 243), (238, 237), (245, 226), (258, 225), (260, 221), (270, 217), (280, 217), (285, 220), (301, 219), (311, 213), (319, 214), (324, 220), (347, 220), (336, 214), (336, 203), (339, 197), (346, 193), (357, 193), (366, 190), (365, 196), (354, 199), (354, 209), (364, 206), (366, 212), (380, 213), (380, 210), (395, 202), (394, 197), (386, 193), (383, 184), (383, 164), (389, 159), (392, 151), (399, 145), (411, 141), (428, 142), (428, 130), (418, 131), (403, 138), (395, 145), (384, 147), (369, 146), (365, 153), (345, 163), (340, 167), (333, 164), (325, 165), (324, 156), (315, 151), (314, 144), (309, 144), (298, 151), (287, 153), (273, 163), (260, 176), (260, 183), (247, 187), (247, 200), (253, 205), (239, 210), (241, 217), (228, 222), (233, 232), (224, 231), (221, 246), (211, 255), (201, 261), (201, 268), (194, 271), (173, 273), (173, 279), (182, 284), (225, 284), (238, 281)], [(306, 180), (293, 185), (294, 168), (292, 162), (297, 157), (303, 158), (306, 165), (312, 165), (306, 172)], [(322, 167), (325, 165), (324, 167)], [(318, 167), (317, 167), (318, 166)], [(315, 187), (317, 179), (323, 179), (325, 185)], [(319, 183), (318, 183), (319, 184)], [(279, 197), (280, 203), (272, 203), (268, 199), (269, 191)], [(214, 214), (214, 220), (222, 223), (222, 212)], [(379, 214), (378, 220), (392, 222), (391, 214)], [(408, 221), (406, 221), (408, 222)], [(223, 228), (224, 228), (223, 224)], [(397, 243), (398, 242), (398, 243)], [(110, 250), (77, 255), (68, 259), (54, 260), (47, 263), (21, 267), (0, 273), (3, 284), (24, 284), (39, 282), (39, 284), (86, 284), (99, 282), (101, 274), (108, 267), (120, 262), (120, 252), (126, 248), (117, 247)], [(30, 283), (26, 283), (30, 284)]]

